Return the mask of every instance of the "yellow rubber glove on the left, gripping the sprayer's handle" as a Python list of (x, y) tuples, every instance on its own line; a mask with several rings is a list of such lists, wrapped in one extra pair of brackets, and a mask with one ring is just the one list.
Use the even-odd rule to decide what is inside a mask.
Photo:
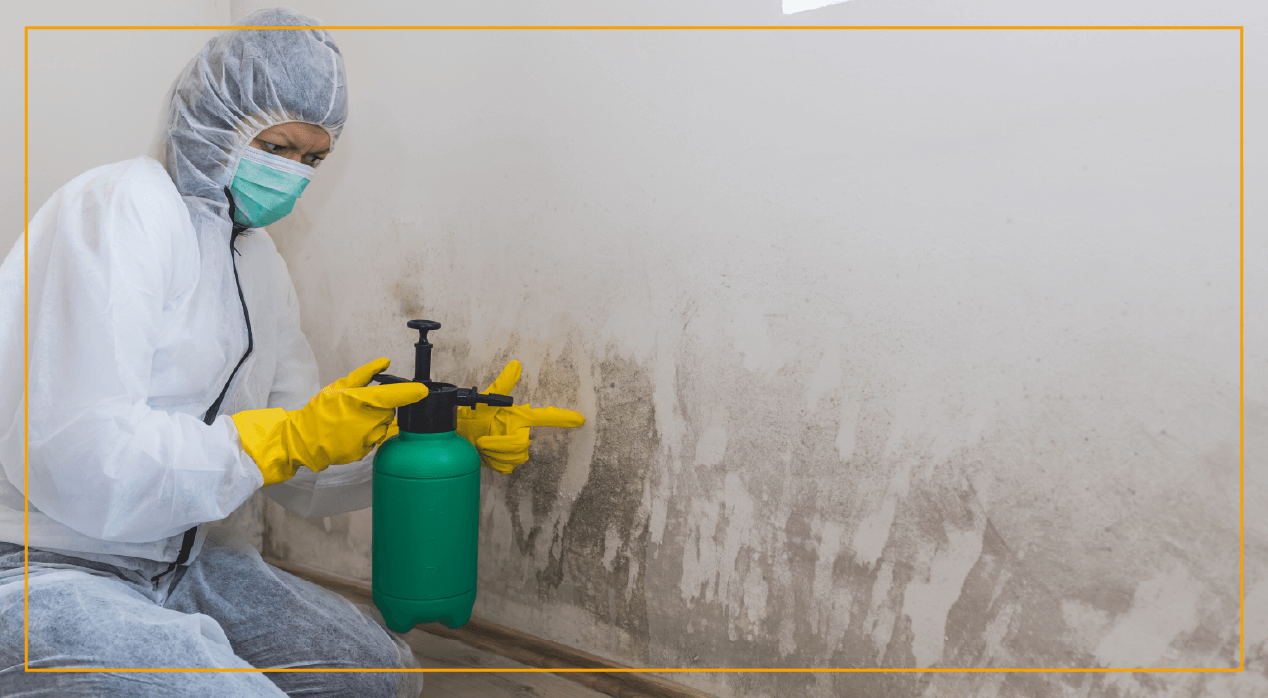
[(392, 435), (396, 407), (422, 400), (427, 387), (366, 387), (387, 367), (387, 359), (373, 360), (326, 386), (298, 410), (271, 407), (233, 415), (242, 449), (264, 473), (264, 485), (290, 480), (299, 466), (321, 472), (359, 461)]

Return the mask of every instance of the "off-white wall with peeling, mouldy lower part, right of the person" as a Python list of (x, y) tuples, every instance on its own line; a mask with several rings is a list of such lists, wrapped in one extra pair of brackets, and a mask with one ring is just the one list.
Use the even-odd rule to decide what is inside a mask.
[[(950, 5), (293, 4), (328, 24), (1263, 25), (1250, 3)], [(1245, 673), (670, 678), (1268, 695), (1262, 48), (1243, 489), (1236, 32), (336, 39), (351, 118), (270, 228), (322, 377), (407, 373), (425, 317), (434, 376), (483, 387), (519, 359), (517, 402), (588, 420), (483, 472), (477, 616), (656, 668), (1236, 668), (1244, 492)], [(369, 579), (368, 510), (264, 508), (268, 553)]]

